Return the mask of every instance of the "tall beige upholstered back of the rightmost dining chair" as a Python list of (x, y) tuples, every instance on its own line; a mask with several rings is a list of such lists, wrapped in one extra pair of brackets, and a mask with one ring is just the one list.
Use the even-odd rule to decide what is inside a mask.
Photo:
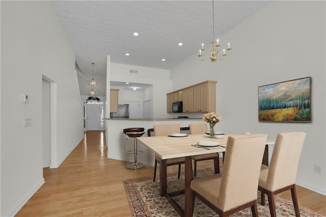
[(305, 138), (305, 132), (288, 132), (277, 135), (270, 159), (266, 186), (264, 186), (268, 191), (273, 192), (295, 184)]

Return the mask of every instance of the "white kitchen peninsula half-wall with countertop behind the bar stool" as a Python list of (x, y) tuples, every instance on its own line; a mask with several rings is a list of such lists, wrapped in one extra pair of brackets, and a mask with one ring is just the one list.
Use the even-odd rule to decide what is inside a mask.
[[(133, 139), (123, 133), (123, 129), (130, 127), (144, 127), (147, 137), (147, 130), (153, 128), (154, 124), (180, 124), (180, 127), (187, 127), (189, 124), (203, 123), (201, 118), (154, 118), (154, 119), (126, 119), (126, 118), (106, 118), (106, 146), (107, 157), (125, 161), (133, 161), (133, 154), (127, 151), (133, 150)], [(190, 133), (184, 131), (184, 133)], [(154, 165), (154, 153), (144, 145), (139, 144), (138, 150), (143, 153), (138, 154), (138, 162), (145, 165)]]

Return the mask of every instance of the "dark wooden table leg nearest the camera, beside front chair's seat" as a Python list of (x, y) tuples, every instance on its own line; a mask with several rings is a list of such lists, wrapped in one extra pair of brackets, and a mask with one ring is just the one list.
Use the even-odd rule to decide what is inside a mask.
[(191, 156), (184, 158), (184, 216), (193, 216), (192, 190), (193, 166)]

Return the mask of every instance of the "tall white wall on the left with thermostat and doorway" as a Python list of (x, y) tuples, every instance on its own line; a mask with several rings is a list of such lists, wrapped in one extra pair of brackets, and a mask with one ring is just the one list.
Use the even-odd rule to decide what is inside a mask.
[(57, 86), (60, 165), (84, 137), (74, 53), (49, 2), (1, 1), (1, 216), (14, 215), (44, 182), (42, 74)]

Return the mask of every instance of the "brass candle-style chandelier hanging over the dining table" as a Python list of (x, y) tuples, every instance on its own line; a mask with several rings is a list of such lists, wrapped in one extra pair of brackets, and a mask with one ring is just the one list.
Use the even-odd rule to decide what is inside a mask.
[[(212, 50), (210, 50), (208, 53), (204, 54), (204, 43), (202, 43), (202, 48), (199, 50), (199, 55), (198, 57), (200, 58), (200, 60), (204, 61), (206, 60), (206, 58), (208, 56), (210, 56), (210, 60), (212, 62), (215, 62), (218, 58), (220, 58), (220, 60), (224, 60), (222, 57), (226, 57), (228, 56), (225, 49), (223, 49), (223, 53), (220, 53), (220, 41), (219, 39), (216, 40), (216, 45), (215, 45), (215, 28), (214, 28), (214, 0), (212, 2), (212, 14), (213, 14), (213, 41), (212, 41)], [(228, 42), (228, 48), (226, 50), (230, 51), (232, 48), (230, 47), (230, 42)], [(222, 56), (222, 57), (221, 57)]]

